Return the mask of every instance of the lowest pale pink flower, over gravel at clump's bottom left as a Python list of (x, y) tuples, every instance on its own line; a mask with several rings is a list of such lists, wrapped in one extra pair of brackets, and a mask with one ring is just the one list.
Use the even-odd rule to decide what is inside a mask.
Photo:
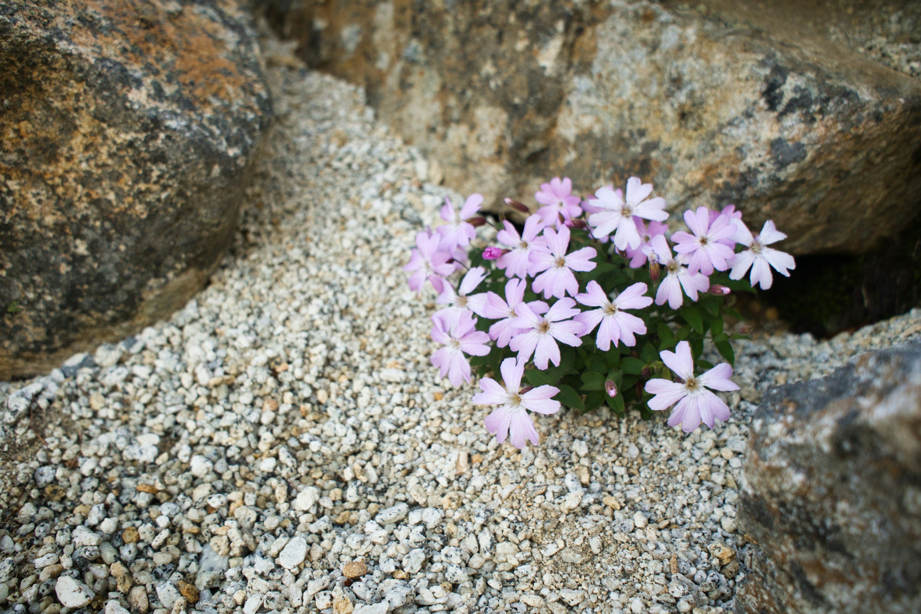
[(524, 364), (518, 363), (514, 358), (506, 358), (499, 366), (505, 386), (499, 386), (492, 377), (480, 380), (483, 392), (473, 395), (473, 402), (477, 405), (498, 405), (486, 417), (486, 430), (495, 433), (495, 441), (502, 444), (506, 435), (511, 434), (512, 446), (519, 449), (525, 446), (525, 441), (537, 446), (537, 431), (534, 423), (530, 421), (528, 411), (538, 413), (555, 413), (560, 410), (560, 401), (553, 400), (560, 389), (554, 386), (539, 386), (521, 390), (521, 376), (524, 374)]

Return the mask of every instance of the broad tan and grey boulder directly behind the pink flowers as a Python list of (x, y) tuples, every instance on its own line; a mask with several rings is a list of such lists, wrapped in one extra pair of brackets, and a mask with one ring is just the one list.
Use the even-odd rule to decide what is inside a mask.
[(556, 175), (637, 175), (672, 211), (773, 218), (803, 254), (869, 249), (921, 202), (911, 0), (267, 4), (310, 65), (365, 86), (493, 207)]

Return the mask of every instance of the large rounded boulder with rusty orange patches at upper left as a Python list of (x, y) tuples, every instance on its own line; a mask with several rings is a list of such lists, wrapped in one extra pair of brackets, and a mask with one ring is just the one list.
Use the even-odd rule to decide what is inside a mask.
[(181, 306), (271, 117), (232, 1), (0, 0), (0, 378)]

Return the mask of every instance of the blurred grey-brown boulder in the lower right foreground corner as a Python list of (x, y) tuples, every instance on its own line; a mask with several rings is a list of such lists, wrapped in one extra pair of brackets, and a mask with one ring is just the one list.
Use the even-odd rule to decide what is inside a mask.
[(768, 390), (738, 522), (738, 612), (921, 612), (921, 342)]

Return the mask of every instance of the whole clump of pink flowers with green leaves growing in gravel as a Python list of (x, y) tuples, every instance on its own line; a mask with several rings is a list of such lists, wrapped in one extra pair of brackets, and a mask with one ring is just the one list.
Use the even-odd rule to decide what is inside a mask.
[[(733, 205), (685, 211), (690, 232), (667, 236), (666, 203), (652, 191), (632, 177), (625, 195), (606, 186), (581, 199), (568, 178), (554, 178), (535, 194), (542, 206), (523, 227), (502, 220), (498, 245), (467, 253), (473, 226), (484, 222), (474, 217), (479, 194), (460, 212), (447, 202), (448, 224), (416, 237), (405, 268), (414, 272), (410, 286), (419, 290), (428, 279), (447, 306), (432, 317), (432, 338), (442, 345), (432, 363), (454, 386), (476, 369), (483, 392), (473, 401), (498, 406), (486, 428), (499, 443), (510, 434), (515, 446), (536, 444), (526, 410), (553, 413), (561, 404), (635, 408), (644, 418), (673, 407), (669, 423), (685, 432), (729, 418), (710, 389), (739, 388), (729, 380), (730, 341), (745, 335), (724, 321), (741, 319), (731, 293), (767, 289), (771, 268), (788, 276), (795, 261), (766, 247), (786, 238), (773, 222), (753, 236)], [(727, 362), (707, 362), (705, 343)]]

